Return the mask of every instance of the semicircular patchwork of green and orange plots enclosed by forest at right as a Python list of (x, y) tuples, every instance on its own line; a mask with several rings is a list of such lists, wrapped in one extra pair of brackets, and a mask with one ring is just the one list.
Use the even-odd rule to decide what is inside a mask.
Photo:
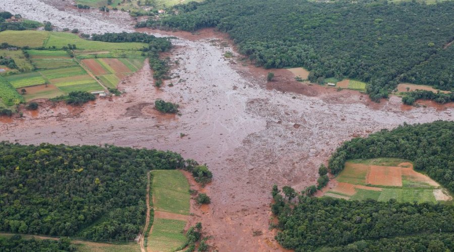
[(449, 194), (428, 176), (413, 170), (407, 160), (376, 158), (350, 160), (325, 196), (350, 200), (399, 202), (450, 200)]

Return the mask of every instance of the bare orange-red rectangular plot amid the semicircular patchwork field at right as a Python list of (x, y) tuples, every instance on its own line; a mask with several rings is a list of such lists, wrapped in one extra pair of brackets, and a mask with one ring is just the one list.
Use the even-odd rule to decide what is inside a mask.
[(402, 167), (370, 165), (366, 183), (402, 186)]

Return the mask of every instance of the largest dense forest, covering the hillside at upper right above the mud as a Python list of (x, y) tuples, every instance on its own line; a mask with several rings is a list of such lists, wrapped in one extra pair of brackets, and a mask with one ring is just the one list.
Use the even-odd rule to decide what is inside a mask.
[[(353, 78), (387, 97), (398, 81), (454, 88), (454, 2), (206, 0), (138, 27), (228, 32), (240, 52), (265, 68), (305, 67), (311, 81)], [(445, 48), (444, 48), (445, 47)], [(445, 62), (439, 62), (446, 59)]]

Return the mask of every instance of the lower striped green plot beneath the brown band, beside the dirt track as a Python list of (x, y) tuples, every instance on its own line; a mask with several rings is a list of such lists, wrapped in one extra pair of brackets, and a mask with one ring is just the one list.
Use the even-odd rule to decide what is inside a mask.
[(185, 226), (186, 221), (154, 219), (147, 247), (152, 251), (175, 251), (186, 241)]

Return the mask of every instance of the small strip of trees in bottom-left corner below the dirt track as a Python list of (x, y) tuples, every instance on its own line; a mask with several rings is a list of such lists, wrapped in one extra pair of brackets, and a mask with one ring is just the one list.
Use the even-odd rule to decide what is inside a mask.
[(9, 238), (0, 236), (0, 251), (7, 252), (60, 252), (60, 251), (76, 251), (77, 247), (71, 245), (70, 240), (61, 238), (59, 240), (50, 239), (23, 239), (19, 234)]

